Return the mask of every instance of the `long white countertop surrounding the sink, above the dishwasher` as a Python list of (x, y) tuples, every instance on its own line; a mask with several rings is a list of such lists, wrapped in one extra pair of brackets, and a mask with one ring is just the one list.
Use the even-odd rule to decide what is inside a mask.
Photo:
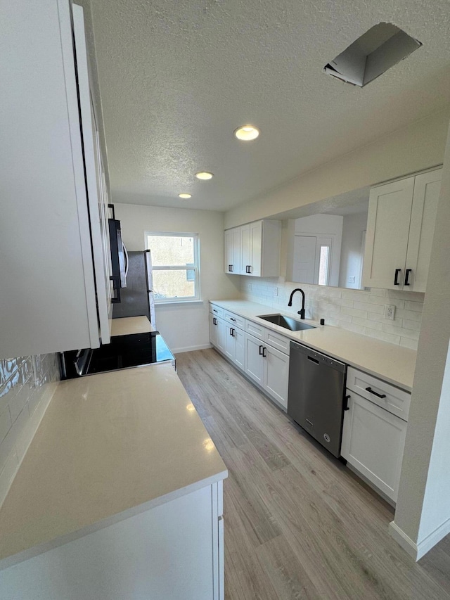
[[(354, 366), (356, 369), (380, 377), (403, 390), (411, 392), (413, 388), (416, 350), (375, 340), (369, 336), (353, 333), (340, 327), (320, 326), (316, 321), (304, 321), (311, 325), (317, 325), (315, 329), (289, 331), (264, 321), (264, 319), (258, 319), (257, 315), (280, 312), (288, 317), (295, 318), (295, 314), (278, 311), (274, 307), (257, 304), (256, 302), (248, 302), (247, 300), (210, 300), (210, 302), (231, 312), (236, 312), (245, 319), (255, 321), (266, 328), (274, 329), (274, 331), (291, 340), (304, 343), (314, 348), (314, 350), (324, 352), (330, 357)], [(298, 318), (300, 319), (300, 317)]]

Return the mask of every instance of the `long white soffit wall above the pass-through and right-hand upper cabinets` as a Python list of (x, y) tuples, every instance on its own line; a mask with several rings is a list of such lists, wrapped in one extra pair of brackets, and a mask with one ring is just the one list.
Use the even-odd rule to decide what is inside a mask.
[(435, 113), (229, 210), (226, 228), (439, 165), (449, 114)]

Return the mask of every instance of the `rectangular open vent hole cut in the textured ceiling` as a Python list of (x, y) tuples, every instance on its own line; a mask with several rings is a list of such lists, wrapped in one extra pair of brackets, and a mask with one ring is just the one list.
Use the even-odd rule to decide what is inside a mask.
[(325, 65), (325, 72), (364, 87), (422, 44), (392, 23), (374, 25)]

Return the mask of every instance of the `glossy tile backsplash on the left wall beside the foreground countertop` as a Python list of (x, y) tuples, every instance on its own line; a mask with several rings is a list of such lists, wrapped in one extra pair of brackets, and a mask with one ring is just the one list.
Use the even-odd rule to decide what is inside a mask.
[(0, 505), (58, 380), (56, 355), (0, 360)]

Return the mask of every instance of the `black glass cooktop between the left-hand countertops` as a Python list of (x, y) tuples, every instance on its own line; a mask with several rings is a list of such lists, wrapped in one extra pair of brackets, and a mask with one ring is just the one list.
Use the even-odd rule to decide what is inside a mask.
[(115, 336), (109, 344), (99, 348), (86, 348), (63, 352), (61, 357), (62, 376), (71, 379), (106, 371), (129, 369), (165, 361), (174, 361), (164, 338), (158, 331)]

